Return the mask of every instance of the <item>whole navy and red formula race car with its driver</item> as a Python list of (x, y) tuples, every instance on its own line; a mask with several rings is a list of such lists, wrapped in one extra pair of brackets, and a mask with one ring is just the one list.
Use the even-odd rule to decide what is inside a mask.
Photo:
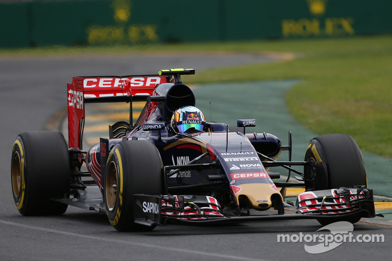
[[(57, 132), (22, 133), (14, 143), (11, 177), (19, 212), (63, 214), (72, 205), (107, 214), (119, 231), (151, 230), (169, 221), (315, 218), (328, 224), (381, 216), (374, 211), (361, 151), (350, 136), (319, 136), (303, 162), (291, 161), (291, 133), (283, 146), (272, 134), (246, 133), (255, 119), (238, 119), (237, 126), (206, 121), (194, 107), (192, 90), (181, 82), (183, 74), (195, 70), (73, 77), (69, 146)], [(135, 101), (147, 103), (133, 124)], [(109, 126), (109, 139), (100, 138), (84, 151), (85, 105), (100, 102), (128, 102), (130, 119)], [(283, 150), (289, 151), (289, 161), (277, 162)], [(88, 171), (81, 171), (83, 163)], [(280, 178), (268, 172), (273, 166), (288, 169), (286, 182), (272, 181)], [(304, 172), (291, 166), (303, 166)], [(289, 182), (292, 172), (298, 183)], [(94, 181), (83, 180), (87, 176)], [(90, 192), (91, 183), (100, 193)], [(285, 203), (286, 188), (298, 186), (306, 191), (297, 198), (297, 211), (285, 214), (291, 203)], [(269, 209), (274, 211), (263, 212)]]

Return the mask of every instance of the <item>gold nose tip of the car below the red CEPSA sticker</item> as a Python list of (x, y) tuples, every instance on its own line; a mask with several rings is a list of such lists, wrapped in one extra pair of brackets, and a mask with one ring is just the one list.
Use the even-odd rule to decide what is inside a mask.
[(246, 205), (248, 207), (255, 210), (268, 210), (272, 206), (271, 196), (274, 194), (280, 197), (281, 204), (283, 204), (283, 197), (273, 184), (254, 183), (238, 185), (235, 186), (236, 188), (231, 187), (237, 205), (240, 205), (240, 200), (247, 200)]

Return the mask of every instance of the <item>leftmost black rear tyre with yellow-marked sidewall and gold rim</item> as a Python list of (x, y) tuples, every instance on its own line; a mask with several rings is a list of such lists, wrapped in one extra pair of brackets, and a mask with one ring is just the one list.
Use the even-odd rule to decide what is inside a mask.
[(70, 192), (70, 160), (61, 133), (25, 132), (18, 135), (11, 159), (15, 205), (23, 215), (64, 214), (68, 205), (52, 201)]

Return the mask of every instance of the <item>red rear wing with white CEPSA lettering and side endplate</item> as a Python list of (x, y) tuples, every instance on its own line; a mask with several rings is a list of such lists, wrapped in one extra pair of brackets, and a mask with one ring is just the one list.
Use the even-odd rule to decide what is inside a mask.
[(149, 96), (157, 84), (172, 82), (172, 80), (172, 75), (73, 77), (72, 83), (67, 84), (69, 147), (82, 149), (85, 98)]

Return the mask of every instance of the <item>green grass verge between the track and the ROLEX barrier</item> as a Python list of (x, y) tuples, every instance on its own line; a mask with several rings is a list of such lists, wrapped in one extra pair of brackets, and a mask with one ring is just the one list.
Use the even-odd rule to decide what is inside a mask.
[(1, 56), (130, 54), (140, 52), (290, 52), (268, 64), (197, 71), (184, 82), (303, 79), (286, 97), (291, 113), (323, 135), (346, 133), (362, 150), (392, 157), (392, 36), (135, 47), (0, 50)]

